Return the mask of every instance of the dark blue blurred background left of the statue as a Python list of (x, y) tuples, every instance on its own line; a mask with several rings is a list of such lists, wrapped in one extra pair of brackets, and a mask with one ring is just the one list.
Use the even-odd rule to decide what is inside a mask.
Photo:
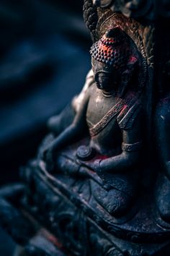
[[(46, 121), (80, 92), (91, 40), (83, 0), (0, 1), (0, 185), (19, 180)], [(0, 229), (0, 256), (14, 244)]]

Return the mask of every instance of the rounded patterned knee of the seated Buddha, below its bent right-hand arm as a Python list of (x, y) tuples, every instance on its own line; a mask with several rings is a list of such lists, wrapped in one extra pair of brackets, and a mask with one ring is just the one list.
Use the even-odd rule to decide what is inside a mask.
[(96, 185), (93, 195), (99, 205), (102, 205), (108, 213), (116, 218), (125, 215), (133, 203), (133, 197), (114, 188), (107, 191), (99, 185)]

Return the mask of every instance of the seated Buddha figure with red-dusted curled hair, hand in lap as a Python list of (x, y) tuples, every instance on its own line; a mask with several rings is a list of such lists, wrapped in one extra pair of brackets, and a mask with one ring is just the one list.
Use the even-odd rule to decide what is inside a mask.
[[(119, 28), (108, 30), (90, 53), (95, 81), (71, 124), (45, 145), (40, 158), (53, 173), (76, 179), (94, 174), (94, 199), (119, 218), (132, 207), (140, 182), (143, 108), (135, 75), (138, 54)], [(74, 166), (62, 156), (71, 145), (76, 149)]]

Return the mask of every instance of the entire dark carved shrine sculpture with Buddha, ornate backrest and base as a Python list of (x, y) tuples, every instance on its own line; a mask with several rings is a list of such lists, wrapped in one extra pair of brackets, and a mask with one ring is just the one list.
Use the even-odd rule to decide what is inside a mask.
[(25, 255), (169, 255), (166, 4), (84, 1), (84, 88), (48, 121), (22, 184), (0, 191), (1, 223)]

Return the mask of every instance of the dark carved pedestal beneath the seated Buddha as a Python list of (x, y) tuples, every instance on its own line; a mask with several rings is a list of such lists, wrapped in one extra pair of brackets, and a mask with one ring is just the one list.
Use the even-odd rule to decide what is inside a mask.
[[(114, 218), (91, 194), (90, 179), (49, 174), (42, 162), (24, 170), (30, 189), (22, 207), (71, 255), (169, 255), (170, 226), (143, 195), (127, 216)], [(48, 246), (48, 245), (47, 245)]]

